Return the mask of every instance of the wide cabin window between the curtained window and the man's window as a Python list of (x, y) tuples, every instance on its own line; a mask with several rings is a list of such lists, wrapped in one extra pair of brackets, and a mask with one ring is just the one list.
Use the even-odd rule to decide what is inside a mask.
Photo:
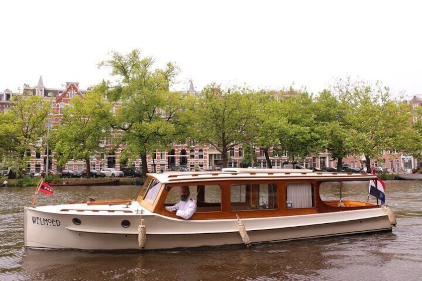
[(230, 210), (277, 209), (275, 184), (233, 185), (230, 187)]

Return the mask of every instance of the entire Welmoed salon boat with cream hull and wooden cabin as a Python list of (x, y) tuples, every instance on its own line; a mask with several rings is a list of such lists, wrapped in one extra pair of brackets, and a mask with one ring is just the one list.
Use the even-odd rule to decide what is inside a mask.
[[(366, 173), (224, 168), (147, 176), (136, 200), (25, 207), (24, 245), (84, 250), (250, 246), (392, 231), (395, 225), (390, 208), (365, 200), (369, 181), (378, 179)], [(180, 200), (181, 186), (189, 186), (197, 202), (190, 219), (165, 209)], [(364, 199), (347, 198), (348, 188), (361, 188)]]

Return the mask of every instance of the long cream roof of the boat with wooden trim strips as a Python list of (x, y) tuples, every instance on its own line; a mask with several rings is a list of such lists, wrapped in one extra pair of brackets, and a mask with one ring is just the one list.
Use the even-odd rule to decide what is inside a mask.
[(370, 181), (376, 175), (368, 173), (313, 172), (301, 169), (246, 169), (223, 168), (209, 172), (165, 172), (149, 173), (149, 177), (162, 184), (182, 184), (192, 182), (220, 182), (232, 180), (315, 180), (315, 181)]

